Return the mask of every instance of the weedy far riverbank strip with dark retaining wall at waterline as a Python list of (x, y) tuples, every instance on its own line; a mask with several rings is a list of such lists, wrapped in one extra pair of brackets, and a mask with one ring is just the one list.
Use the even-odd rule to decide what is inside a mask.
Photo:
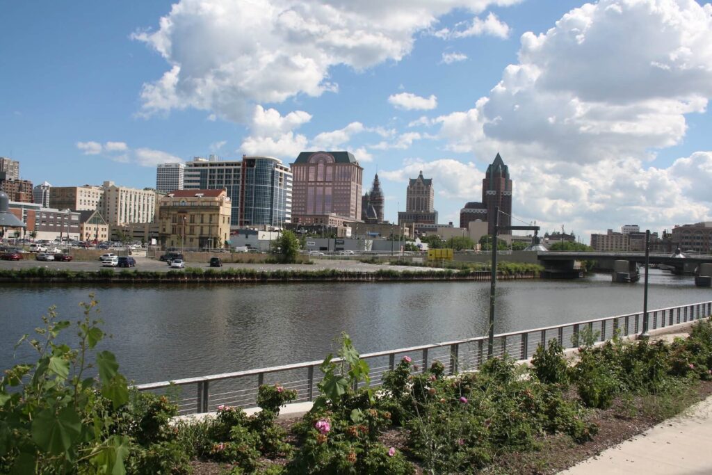
[[(503, 280), (538, 278), (535, 266), (523, 270), (498, 271)], [(274, 282), (379, 282), (379, 281), (488, 281), (489, 271), (469, 269), (426, 268), (418, 271), (389, 269), (379, 266), (374, 271), (345, 269), (256, 269), (256, 268), (185, 268), (179, 271), (139, 271), (100, 268), (96, 271), (75, 271), (43, 266), (31, 268), (0, 269), (0, 283), (274, 283)]]

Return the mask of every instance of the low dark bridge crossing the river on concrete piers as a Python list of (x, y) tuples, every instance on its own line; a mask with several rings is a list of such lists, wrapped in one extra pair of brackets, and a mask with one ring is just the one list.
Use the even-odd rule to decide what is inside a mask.
[[(537, 259), (544, 266), (545, 278), (577, 278), (582, 269), (577, 261), (597, 261), (598, 267), (612, 270), (614, 282), (632, 282), (639, 278), (639, 264), (645, 262), (644, 252), (597, 252), (597, 251), (540, 251)], [(697, 286), (709, 287), (712, 283), (712, 256), (701, 254), (649, 254), (649, 263), (669, 266), (673, 273), (695, 275)]]

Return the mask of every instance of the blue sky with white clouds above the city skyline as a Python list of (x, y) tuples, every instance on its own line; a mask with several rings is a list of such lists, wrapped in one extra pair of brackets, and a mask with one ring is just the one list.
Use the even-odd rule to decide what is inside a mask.
[(0, 28), (0, 156), (35, 184), (348, 150), (385, 219), (422, 170), (458, 226), (499, 152), (543, 231), (712, 221), (703, 1), (4, 2)]

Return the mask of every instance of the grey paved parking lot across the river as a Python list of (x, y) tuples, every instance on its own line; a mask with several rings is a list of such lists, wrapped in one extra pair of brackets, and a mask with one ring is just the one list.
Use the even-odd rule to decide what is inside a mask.
[[(147, 257), (135, 257), (136, 269), (140, 271), (168, 271), (166, 263)], [(266, 264), (266, 263), (225, 263), (223, 268), (253, 268), (261, 271), (281, 270), (281, 271), (320, 271), (323, 269), (337, 269), (350, 272), (375, 272), (382, 268), (395, 271), (426, 271), (431, 268), (415, 266), (389, 266), (384, 264), (367, 264), (359, 261), (313, 259), (313, 264)], [(188, 267), (209, 268), (207, 263), (186, 263)], [(0, 268), (33, 268), (47, 267), (57, 269), (70, 269), (72, 271), (98, 271), (102, 268), (100, 261), (71, 261), (53, 262), (36, 261), (34, 259), (23, 259), (22, 261), (0, 261)]]

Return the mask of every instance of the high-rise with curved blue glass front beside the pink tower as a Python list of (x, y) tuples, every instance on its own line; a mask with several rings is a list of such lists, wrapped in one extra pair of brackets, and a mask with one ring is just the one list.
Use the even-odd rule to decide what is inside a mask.
[(290, 169), (273, 157), (195, 157), (186, 164), (184, 176), (184, 189), (226, 190), (234, 228), (282, 228), (291, 220), (292, 185)]

